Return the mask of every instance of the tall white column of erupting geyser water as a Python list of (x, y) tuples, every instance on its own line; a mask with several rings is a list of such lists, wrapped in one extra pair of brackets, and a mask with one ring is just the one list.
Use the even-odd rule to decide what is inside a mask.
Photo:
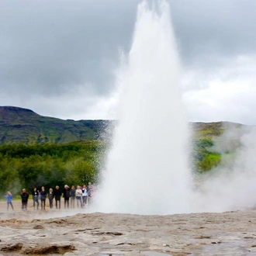
[(105, 213), (189, 212), (189, 129), (167, 2), (137, 10), (119, 86), (116, 126), (95, 209)]

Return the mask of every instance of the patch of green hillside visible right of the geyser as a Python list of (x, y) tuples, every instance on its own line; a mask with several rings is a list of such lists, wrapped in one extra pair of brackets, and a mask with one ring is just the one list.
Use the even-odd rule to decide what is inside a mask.
[(230, 122), (191, 123), (191, 126), (192, 167), (199, 174), (218, 166), (224, 155), (234, 154), (240, 147), (241, 135), (248, 127)]

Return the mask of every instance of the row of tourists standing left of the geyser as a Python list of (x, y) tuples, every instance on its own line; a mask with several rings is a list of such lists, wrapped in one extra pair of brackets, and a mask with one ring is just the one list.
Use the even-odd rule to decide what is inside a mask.
[[(94, 192), (95, 189), (91, 182), (88, 182), (88, 186), (83, 185), (81, 187), (78, 185), (76, 188), (74, 185), (72, 185), (71, 188), (68, 185), (64, 185), (64, 189), (60, 189), (60, 187), (56, 185), (55, 189), (50, 188), (48, 192), (44, 187), (41, 187), (40, 190), (35, 187), (32, 192), (33, 209), (45, 209), (47, 199), (49, 200), (50, 209), (54, 208), (54, 202), (56, 209), (61, 209), (61, 196), (64, 198), (65, 209), (74, 209), (75, 205), (78, 208), (85, 208), (85, 206), (88, 206), (88, 203), (92, 201)], [(26, 210), (29, 201), (29, 192), (27, 192), (26, 189), (22, 189), (20, 197), (22, 200), (22, 210)], [(5, 198), (7, 201), (7, 210), (9, 210), (9, 206), (12, 206), (12, 210), (14, 210), (12, 205), (12, 193), (10, 191), (7, 192)]]

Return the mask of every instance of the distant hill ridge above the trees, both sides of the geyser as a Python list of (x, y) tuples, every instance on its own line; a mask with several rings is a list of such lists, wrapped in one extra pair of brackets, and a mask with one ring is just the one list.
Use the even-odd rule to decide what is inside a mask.
[[(40, 116), (30, 109), (0, 106), (0, 144), (65, 144), (97, 140), (111, 133), (112, 120), (57, 119)], [(190, 123), (194, 140), (220, 137), (225, 130), (244, 127), (239, 123)], [(107, 129), (109, 128), (109, 129)]]

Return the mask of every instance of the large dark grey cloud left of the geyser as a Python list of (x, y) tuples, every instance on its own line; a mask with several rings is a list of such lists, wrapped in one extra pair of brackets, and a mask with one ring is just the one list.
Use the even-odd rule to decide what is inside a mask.
[(85, 84), (108, 92), (118, 47), (130, 41), (136, 5), (123, 1), (2, 1), (2, 87), (60, 93)]

